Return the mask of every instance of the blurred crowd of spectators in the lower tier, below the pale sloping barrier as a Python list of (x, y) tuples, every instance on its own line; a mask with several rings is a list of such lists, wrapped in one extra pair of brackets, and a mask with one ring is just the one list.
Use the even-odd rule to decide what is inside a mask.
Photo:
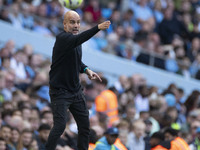
[[(4, 147), (2, 150), (42, 149), (53, 125), (48, 94), (51, 62), (35, 54), (31, 45), (17, 48), (12, 40), (2, 44), (0, 60), (0, 147)], [(186, 96), (184, 90), (173, 83), (159, 89), (147, 85), (141, 74), (121, 75), (108, 87), (104, 74), (99, 75), (102, 82), (90, 81), (86, 74), (80, 75), (96, 140), (114, 126), (119, 129), (118, 137), (124, 146), (130, 150), (150, 150), (151, 135), (171, 127), (179, 130), (179, 136), (191, 147), (196, 146), (194, 142), (200, 132), (198, 90)], [(109, 122), (111, 116), (101, 112), (107, 107), (103, 106), (105, 99), (99, 99), (105, 91), (113, 95), (108, 99), (116, 99), (117, 119), (112, 123)], [(56, 150), (76, 149), (77, 132), (69, 113)], [(93, 139), (93, 142), (96, 141)]]

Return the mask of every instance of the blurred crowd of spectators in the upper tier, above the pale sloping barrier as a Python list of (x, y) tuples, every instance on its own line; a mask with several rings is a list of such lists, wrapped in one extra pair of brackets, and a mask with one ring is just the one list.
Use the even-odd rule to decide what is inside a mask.
[[(102, 20), (111, 27), (97, 34), (94, 50), (200, 79), (198, 0), (84, 0), (76, 11), (82, 30)], [(55, 36), (67, 9), (57, 0), (0, 0), (0, 19), (18, 29)]]

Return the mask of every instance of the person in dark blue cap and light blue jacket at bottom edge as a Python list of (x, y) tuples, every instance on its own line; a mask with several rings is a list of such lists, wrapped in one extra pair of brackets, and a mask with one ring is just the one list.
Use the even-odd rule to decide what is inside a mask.
[(96, 142), (94, 150), (119, 150), (115, 145), (115, 141), (119, 135), (119, 131), (115, 127), (108, 128), (105, 135)]

